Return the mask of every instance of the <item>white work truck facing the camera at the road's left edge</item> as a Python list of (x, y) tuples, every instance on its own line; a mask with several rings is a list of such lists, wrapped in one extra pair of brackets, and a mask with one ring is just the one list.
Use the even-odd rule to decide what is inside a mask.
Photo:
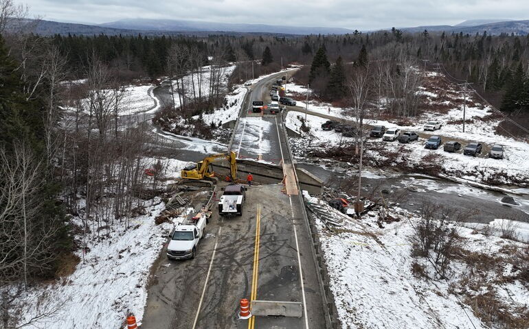
[(177, 225), (167, 246), (167, 258), (194, 258), (196, 245), (202, 239), (206, 225), (207, 215), (203, 213), (199, 213), (196, 217), (192, 217), (192, 219)]

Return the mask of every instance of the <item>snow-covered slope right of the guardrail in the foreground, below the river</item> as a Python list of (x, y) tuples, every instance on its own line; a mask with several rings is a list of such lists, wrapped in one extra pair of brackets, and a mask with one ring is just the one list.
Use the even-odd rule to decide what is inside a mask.
[[(310, 196), (308, 200), (322, 203)], [(385, 228), (377, 228), (375, 212), (364, 215), (361, 221), (349, 219), (335, 232), (315, 219), (343, 328), (488, 328), (469, 305), (460, 302), (464, 296), (458, 284), (466, 276), (466, 265), (455, 263), (449, 282), (412, 273), (413, 263), (421, 263), (421, 259), (412, 257), (409, 241), (414, 232), (412, 223), (417, 219), (398, 208), (393, 212), (402, 214), (401, 221), (385, 224)], [(516, 245), (495, 236), (475, 234), (470, 228), (460, 228), (459, 232), (471, 251), (494, 254), (501, 247)], [(458, 295), (452, 293), (454, 287)], [(494, 287), (503, 291), (496, 297), (510, 310), (522, 312), (528, 306), (527, 283), (510, 280)]]

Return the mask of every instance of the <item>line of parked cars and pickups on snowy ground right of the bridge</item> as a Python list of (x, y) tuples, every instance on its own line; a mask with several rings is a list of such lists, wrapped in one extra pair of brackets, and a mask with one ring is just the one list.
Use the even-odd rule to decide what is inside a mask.
[[(435, 131), (440, 130), (442, 123), (438, 121), (429, 121), (427, 122), (423, 129), (425, 131)], [(335, 132), (341, 132), (342, 136), (353, 137), (356, 134), (354, 127), (351, 125), (344, 125), (337, 123), (336, 121), (326, 121), (322, 124), (322, 130), (335, 130)], [(386, 142), (398, 141), (398, 143), (412, 143), (413, 141), (418, 141), (419, 135), (416, 132), (401, 131), (398, 128), (387, 129), (383, 125), (375, 125), (372, 127), (372, 130), (369, 134), (373, 138), (382, 138)], [(440, 136), (431, 136), (425, 143), (426, 149), (438, 149), (442, 144), (442, 138)], [(456, 152), (462, 148), (461, 143), (458, 141), (447, 141), (443, 145), (443, 150), (447, 152)], [(483, 144), (478, 142), (472, 142), (467, 144), (463, 149), (463, 154), (465, 156), (477, 156), (483, 151)], [(495, 144), (491, 147), (491, 150), (488, 152), (489, 158), (503, 159), (504, 158), (504, 146)]]

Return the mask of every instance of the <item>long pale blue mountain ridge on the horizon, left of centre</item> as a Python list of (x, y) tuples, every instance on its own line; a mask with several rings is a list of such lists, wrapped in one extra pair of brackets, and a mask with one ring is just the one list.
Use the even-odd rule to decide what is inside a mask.
[(172, 19), (122, 19), (103, 23), (101, 27), (170, 32), (240, 32), (269, 34), (346, 34), (353, 30), (341, 27), (302, 27), (287, 25), (214, 23)]

